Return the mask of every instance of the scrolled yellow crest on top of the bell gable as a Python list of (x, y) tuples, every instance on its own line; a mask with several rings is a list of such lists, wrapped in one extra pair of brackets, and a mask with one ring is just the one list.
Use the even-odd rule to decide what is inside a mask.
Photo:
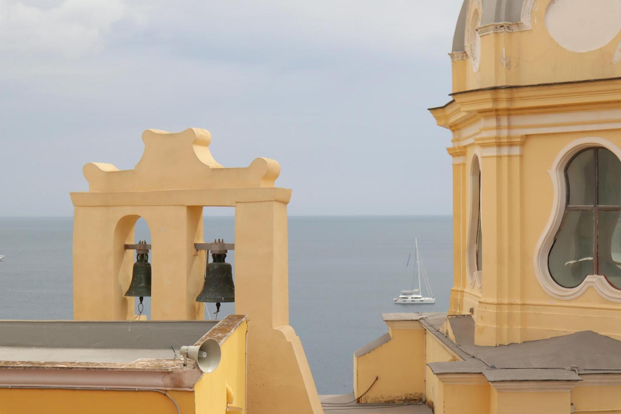
[(145, 150), (133, 170), (109, 163), (84, 165), (90, 192), (209, 190), (214, 188), (273, 187), (280, 174), (276, 160), (257, 158), (248, 167), (224, 168), (209, 151), (206, 129), (183, 132), (147, 129)]

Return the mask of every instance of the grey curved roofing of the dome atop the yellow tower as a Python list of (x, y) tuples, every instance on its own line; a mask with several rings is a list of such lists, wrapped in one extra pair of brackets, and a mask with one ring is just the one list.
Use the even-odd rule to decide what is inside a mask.
[[(471, 1), (464, 0), (453, 36), (453, 52), (465, 52), (466, 14)], [(481, 25), (494, 23), (519, 23), (527, 0), (481, 0)]]

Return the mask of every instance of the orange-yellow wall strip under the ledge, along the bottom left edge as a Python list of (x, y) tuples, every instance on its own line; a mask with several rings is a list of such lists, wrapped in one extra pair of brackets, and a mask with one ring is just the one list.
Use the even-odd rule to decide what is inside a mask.
[[(168, 393), (175, 398), (181, 413), (195, 413), (193, 392), (169, 391)], [(176, 413), (176, 409), (175, 404), (166, 395), (158, 392), (0, 389), (0, 414), (18, 413), (172, 414)]]

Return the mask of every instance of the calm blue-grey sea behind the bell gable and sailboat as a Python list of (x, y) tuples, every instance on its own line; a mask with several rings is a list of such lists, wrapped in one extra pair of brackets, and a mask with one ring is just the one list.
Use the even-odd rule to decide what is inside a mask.
[[(71, 218), (0, 218), (0, 319), (72, 319)], [(289, 306), (319, 393), (352, 390), (352, 355), (386, 333), (380, 313), (445, 311), (452, 285), (449, 216), (290, 217)], [(146, 224), (136, 239), (149, 240)], [(205, 218), (205, 240), (233, 242), (232, 217)], [(396, 305), (411, 288), (418, 238), (435, 305)], [(233, 264), (234, 253), (227, 257)], [(96, 295), (97, 292), (93, 292)], [(214, 304), (209, 304), (213, 311)], [(145, 307), (148, 313), (148, 303)], [(219, 318), (232, 313), (222, 305)]]

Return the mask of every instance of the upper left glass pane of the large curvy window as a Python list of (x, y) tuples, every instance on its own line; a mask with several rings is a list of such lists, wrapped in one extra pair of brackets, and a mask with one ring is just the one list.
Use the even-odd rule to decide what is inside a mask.
[(570, 206), (595, 204), (595, 151), (580, 152), (567, 166)]

